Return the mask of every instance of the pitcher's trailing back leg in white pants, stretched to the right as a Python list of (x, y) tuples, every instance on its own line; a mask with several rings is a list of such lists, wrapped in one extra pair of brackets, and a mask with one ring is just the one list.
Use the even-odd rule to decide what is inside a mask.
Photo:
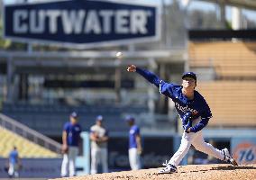
[(192, 145), (199, 151), (206, 153), (207, 155), (216, 157), (218, 159), (224, 160), (224, 153), (222, 150), (214, 148), (213, 145), (206, 143), (205, 139), (203, 138), (202, 130), (196, 133), (195, 139), (192, 141)]

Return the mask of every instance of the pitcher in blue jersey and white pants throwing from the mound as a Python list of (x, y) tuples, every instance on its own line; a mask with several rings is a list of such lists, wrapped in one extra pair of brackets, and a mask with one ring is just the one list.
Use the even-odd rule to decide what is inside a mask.
[(182, 121), (184, 133), (178, 151), (170, 158), (169, 162), (164, 164), (165, 167), (160, 170), (159, 174), (177, 172), (178, 164), (185, 157), (191, 145), (207, 155), (237, 166), (227, 148), (221, 150), (214, 148), (211, 144), (206, 143), (203, 138), (202, 129), (206, 127), (212, 113), (204, 97), (195, 90), (197, 86), (195, 73), (185, 73), (182, 76), (182, 85), (175, 85), (166, 83), (150, 71), (134, 65), (128, 66), (127, 71), (137, 72), (151, 84), (159, 87), (160, 94), (165, 94), (175, 103), (175, 108)]

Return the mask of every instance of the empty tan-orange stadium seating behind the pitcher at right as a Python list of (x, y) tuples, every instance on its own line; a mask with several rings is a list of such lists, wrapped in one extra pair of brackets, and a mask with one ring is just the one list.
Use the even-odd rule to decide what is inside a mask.
[(256, 43), (191, 41), (188, 51), (190, 67), (215, 69), (214, 81), (197, 84), (213, 112), (209, 125), (255, 127)]

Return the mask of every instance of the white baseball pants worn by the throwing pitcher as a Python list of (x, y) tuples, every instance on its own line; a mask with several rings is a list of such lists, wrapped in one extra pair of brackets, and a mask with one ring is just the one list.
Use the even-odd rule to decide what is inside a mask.
[(183, 157), (186, 156), (191, 144), (199, 151), (206, 153), (207, 155), (224, 159), (224, 154), (221, 150), (214, 148), (211, 144), (206, 143), (203, 138), (202, 130), (197, 133), (183, 132), (182, 139), (178, 151), (170, 158), (169, 164), (178, 166)]

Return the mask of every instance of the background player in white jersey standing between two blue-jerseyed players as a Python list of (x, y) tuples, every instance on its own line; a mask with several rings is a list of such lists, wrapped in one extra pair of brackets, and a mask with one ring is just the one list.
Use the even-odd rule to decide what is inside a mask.
[(103, 116), (96, 117), (96, 124), (90, 129), (91, 142), (91, 174), (98, 173), (97, 166), (101, 165), (103, 173), (108, 172), (107, 140), (108, 132), (103, 126)]

